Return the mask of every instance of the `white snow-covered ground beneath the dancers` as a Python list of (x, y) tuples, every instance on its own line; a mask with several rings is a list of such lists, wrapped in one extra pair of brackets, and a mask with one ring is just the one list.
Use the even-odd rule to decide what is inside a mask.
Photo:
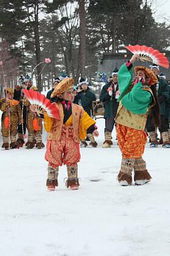
[(46, 190), (45, 149), (0, 149), (0, 255), (170, 255), (170, 150), (148, 144), (152, 182), (120, 187), (115, 135), (114, 146), (102, 149), (104, 120), (97, 126), (98, 148), (81, 149), (77, 191), (64, 187), (66, 166), (58, 189)]

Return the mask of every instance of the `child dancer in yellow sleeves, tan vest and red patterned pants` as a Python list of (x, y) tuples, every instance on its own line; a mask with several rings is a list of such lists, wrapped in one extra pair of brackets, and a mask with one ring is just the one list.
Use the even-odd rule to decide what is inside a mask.
[(67, 188), (78, 189), (77, 163), (80, 161), (80, 140), (86, 137), (86, 133), (98, 136), (95, 121), (87, 115), (83, 107), (72, 103), (74, 95), (73, 79), (63, 79), (51, 95), (60, 121), (44, 115), (44, 127), (48, 132), (45, 155), (49, 162), (46, 182), (48, 190), (55, 190), (58, 186), (58, 170), (63, 164), (67, 166)]

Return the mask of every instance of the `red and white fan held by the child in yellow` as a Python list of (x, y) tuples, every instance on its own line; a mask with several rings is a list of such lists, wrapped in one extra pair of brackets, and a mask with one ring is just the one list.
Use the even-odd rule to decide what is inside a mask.
[(44, 95), (38, 91), (22, 89), (27, 100), (32, 104), (33, 109), (38, 114), (47, 115), (52, 118), (60, 120), (58, 108), (55, 107), (54, 103), (51, 103), (49, 99), (46, 99)]

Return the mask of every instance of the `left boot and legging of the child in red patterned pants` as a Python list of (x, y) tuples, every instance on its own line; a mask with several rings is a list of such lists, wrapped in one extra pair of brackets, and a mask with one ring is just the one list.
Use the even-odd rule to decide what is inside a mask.
[(53, 191), (55, 187), (58, 187), (58, 170), (58, 166), (56, 166), (56, 168), (48, 166), (47, 190)]

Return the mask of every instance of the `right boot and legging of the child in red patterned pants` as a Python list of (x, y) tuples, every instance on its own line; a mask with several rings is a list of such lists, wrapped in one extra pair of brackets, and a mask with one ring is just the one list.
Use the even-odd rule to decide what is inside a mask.
[(68, 179), (66, 181), (66, 187), (71, 190), (78, 190), (78, 186), (80, 186), (78, 181), (78, 166), (67, 166), (67, 175)]

